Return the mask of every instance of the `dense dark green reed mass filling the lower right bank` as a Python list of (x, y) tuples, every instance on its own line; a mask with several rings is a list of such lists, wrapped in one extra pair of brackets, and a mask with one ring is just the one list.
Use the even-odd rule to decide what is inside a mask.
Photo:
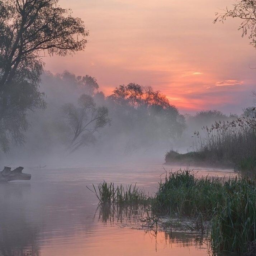
[(256, 243), (256, 181), (196, 177), (190, 170), (166, 175), (153, 201), (158, 213), (195, 217), (201, 214), (212, 225), (213, 251), (243, 255)]

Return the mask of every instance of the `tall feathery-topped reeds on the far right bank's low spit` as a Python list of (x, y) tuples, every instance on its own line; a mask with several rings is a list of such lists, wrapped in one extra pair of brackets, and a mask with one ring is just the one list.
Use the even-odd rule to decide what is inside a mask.
[(202, 127), (204, 136), (194, 132), (195, 150), (188, 153), (169, 151), (165, 163), (217, 165), (234, 170), (256, 173), (256, 119), (241, 117), (219, 121)]

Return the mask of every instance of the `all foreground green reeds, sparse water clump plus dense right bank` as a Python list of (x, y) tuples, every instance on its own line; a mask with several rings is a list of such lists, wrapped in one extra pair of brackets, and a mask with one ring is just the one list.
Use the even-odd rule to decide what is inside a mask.
[(256, 179), (248, 176), (198, 177), (193, 170), (180, 169), (166, 172), (154, 196), (136, 185), (115, 187), (105, 181), (90, 190), (108, 210), (111, 207), (106, 206), (143, 205), (141, 222), (148, 228), (162, 225), (174, 230), (175, 219), (194, 220), (191, 230), (198, 229), (207, 236), (213, 255), (250, 256), (256, 251)]

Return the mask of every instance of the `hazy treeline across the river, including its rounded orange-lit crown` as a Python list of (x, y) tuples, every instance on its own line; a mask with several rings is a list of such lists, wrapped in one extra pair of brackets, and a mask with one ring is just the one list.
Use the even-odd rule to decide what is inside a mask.
[(95, 78), (69, 72), (43, 74), (47, 107), (29, 114), (30, 148), (74, 152), (84, 146), (130, 153), (158, 144), (169, 147), (180, 137), (185, 118), (160, 91), (130, 83), (113, 94), (99, 91)]

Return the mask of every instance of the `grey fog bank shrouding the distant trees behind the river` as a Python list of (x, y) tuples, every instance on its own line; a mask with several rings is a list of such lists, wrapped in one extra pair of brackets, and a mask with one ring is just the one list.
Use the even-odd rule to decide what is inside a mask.
[[(106, 162), (164, 162), (169, 150), (196, 150), (193, 134), (201, 127), (236, 117), (217, 110), (181, 115), (160, 91), (134, 83), (116, 87), (110, 96), (100, 89), (96, 79), (88, 75), (44, 72), (40, 91), (46, 109), (28, 113), (25, 143), (2, 154), (6, 165), (80, 167)], [(82, 95), (89, 98), (81, 99)], [(99, 113), (103, 115), (97, 119)], [(92, 117), (99, 122), (90, 123), (75, 139), (80, 121), (74, 119), (80, 117), (84, 126)]]

